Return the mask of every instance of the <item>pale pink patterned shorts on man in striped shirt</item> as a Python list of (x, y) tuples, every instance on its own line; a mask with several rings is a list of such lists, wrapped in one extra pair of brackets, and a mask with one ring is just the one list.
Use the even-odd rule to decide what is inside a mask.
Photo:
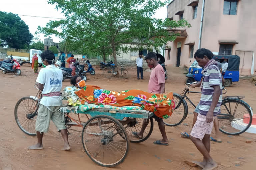
[(213, 121), (211, 123), (207, 123), (206, 116), (198, 114), (196, 123), (192, 128), (190, 135), (198, 139), (203, 139), (205, 134), (211, 134), (212, 127)]

